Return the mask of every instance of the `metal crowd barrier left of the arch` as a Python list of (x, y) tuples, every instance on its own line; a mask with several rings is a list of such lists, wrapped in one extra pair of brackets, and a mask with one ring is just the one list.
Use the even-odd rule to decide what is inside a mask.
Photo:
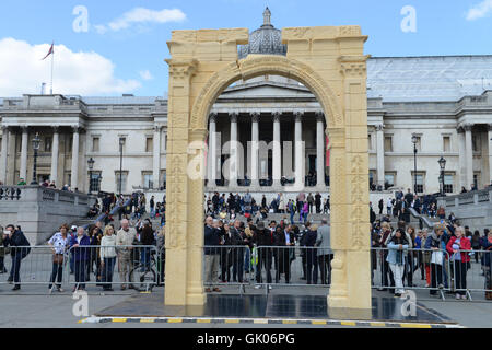
[[(17, 258), (5, 255), (7, 272), (0, 275), (0, 284), (42, 284), (50, 292), (57, 287), (85, 289), (86, 285), (150, 291), (164, 284), (165, 252), (154, 245), (67, 247), (62, 255), (55, 255), (50, 246), (12, 247), (11, 252), (26, 248), (31, 252), (20, 264)], [(101, 264), (102, 249), (115, 249), (117, 255)], [(15, 278), (16, 267), (19, 278)], [(12, 268), (14, 276), (10, 281)]]

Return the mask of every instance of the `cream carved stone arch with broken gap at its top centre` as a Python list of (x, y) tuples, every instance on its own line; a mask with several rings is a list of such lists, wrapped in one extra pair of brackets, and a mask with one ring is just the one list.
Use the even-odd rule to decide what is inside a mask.
[(166, 305), (203, 305), (203, 179), (209, 113), (237, 80), (295, 79), (321, 104), (330, 139), (330, 307), (371, 310), (366, 36), (359, 26), (282, 31), (286, 57), (238, 60), (246, 28), (175, 31), (168, 93)]

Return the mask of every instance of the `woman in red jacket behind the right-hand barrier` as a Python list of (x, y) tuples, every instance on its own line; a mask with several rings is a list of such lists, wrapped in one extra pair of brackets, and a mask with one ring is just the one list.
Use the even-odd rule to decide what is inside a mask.
[(467, 265), (470, 262), (471, 243), (465, 236), (465, 229), (459, 226), (446, 246), (449, 259), (455, 268), (456, 299), (467, 299)]

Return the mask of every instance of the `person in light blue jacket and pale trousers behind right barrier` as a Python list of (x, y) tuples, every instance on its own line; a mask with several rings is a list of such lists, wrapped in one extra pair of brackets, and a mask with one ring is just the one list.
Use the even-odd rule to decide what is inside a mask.
[(409, 242), (407, 241), (405, 231), (397, 229), (387, 247), (388, 256), (386, 261), (388, 261), (389, 268), (395, 277), (395, 296), (401, 296), (405, 293), (403, 271), (409, 248)]

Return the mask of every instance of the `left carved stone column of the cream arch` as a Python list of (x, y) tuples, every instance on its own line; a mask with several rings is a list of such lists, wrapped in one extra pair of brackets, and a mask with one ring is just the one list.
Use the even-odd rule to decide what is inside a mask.
[[(203, 305), (202, 258), (203, 226), (194, 228), (189, 222), (203, 213), (188, 210), (196, 201), (202, 206), (203, 179), (191, 180), (188, 172), (189, 160), (194, 158), (190, 149), (189, 116), (190, 116), (190, 81), (198, 62), (194, 59), (168, 59), (169, 65), (169, 97), (168, 97), (168, 149), (167, 149), (167, 213), (166, 213), (166, 305)], [(204, 136), (201, 142), (204, 141)], [(191, 154), (190, 154), (191, 153)], [(190, 184), (200, 182), (201, 186)], [(201, 213), (201, 214), (200, 214)], [(195, 220), (195, 221), (194, 221)], [(197, 236), (198, 235), (198, 236)], [(195, 248), (189, 249), (189, 244)], [(199, 250), (200, 257), (197, 257)], [(195, 252), (195, 253), (194, 253)]]

